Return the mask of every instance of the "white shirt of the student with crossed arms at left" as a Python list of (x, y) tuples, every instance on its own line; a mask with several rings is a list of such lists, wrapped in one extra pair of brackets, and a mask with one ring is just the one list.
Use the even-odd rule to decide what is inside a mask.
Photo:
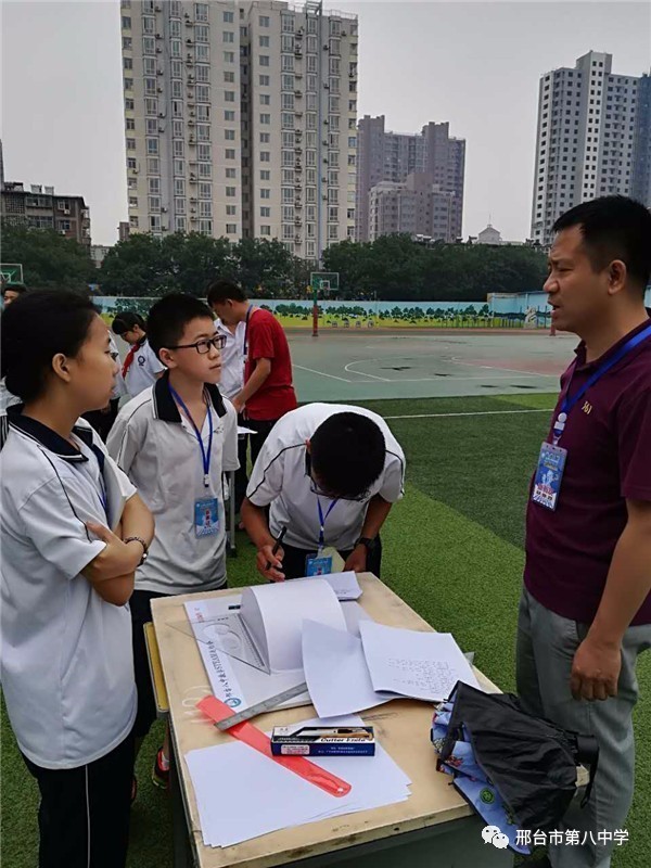
[(100, 460), (111, 459), (82, 419), (79, 452), (35, 420), (10, 419), (0, 454), (4, 699), (31, 762), (76, 768), (116, 748), (136, 718), (129, 609), (105, 602), (80, 575), (105, 547), (86, 522), (107, 524)]

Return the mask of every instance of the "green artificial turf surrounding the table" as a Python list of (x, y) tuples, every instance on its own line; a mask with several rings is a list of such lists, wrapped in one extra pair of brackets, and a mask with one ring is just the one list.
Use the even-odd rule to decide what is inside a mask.
[[(433, 627), (474, 650), (476, 665), (503, 690), (514, 689), (527, 483), (548, 424), (544, 410), (552, 405), (553, 396), (539, 394), (366, 405), (386, 417), (425, 417), (390, 420), (407, 454), (407, 492), (383, 532), (383, 579)], [(239, 557), (229, 561), (234, 586), (256, 578), (254, 550), (240, 536)], [(651, 654), (640, 659), (638, 675), (636, 799), (627, 822), (630, 842), (617, 850), (615, 868), (649, 865)], [(140, 755), (130, 868), (171, 865), (168, 799), (149, 779), (161, 731), (158, 724)], [(36, 806), (35, 787), (3, 716), (3, 865), (36, 865)]]

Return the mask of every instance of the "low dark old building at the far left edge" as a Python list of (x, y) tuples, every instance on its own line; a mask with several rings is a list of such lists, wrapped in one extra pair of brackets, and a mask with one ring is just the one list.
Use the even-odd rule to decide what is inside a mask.
[(53, 187), (4, 181), (0, 193), (2, 221), (34, 229), (54, 229), (90, 252), (90, 212), (84, 196), (56, 193)]

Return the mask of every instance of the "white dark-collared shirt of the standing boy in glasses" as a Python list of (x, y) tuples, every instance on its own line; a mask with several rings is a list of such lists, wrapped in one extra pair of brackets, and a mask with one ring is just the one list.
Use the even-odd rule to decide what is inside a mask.
[[(222, 473), (240, 467), (238, 417), (217, 386), (206, 385), (213, 419), (206, 487), (196, 434), (179, 413), (168, 379), (164, 374), (122, 408), (106, 444), (156, 522), (148, 559), (136, 571), (136, 587), (161, 593), (215, 590), (226, 582)], [(207, 414), (201, 434), (207, 451)], [(218, 532), (196, 536), (195, 503), (205, 498), (217, 498)]]

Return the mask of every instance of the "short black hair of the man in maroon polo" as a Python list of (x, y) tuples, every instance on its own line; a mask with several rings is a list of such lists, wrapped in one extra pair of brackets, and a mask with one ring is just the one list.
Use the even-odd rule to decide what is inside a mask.
[(642, 292), (651, 277), (651, 213), (627, 196), (600, 196), (561, 214), (554, 232), (578, 226), (595, 271), (613, 259), (626, 265), (630, 281)]

